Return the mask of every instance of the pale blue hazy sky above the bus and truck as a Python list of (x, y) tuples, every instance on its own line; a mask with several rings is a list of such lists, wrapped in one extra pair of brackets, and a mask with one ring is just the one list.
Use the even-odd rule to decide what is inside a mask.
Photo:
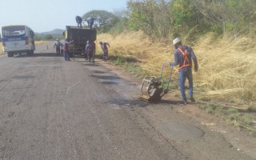
[(77, 26), (75, 16), (91, 10), (126, 10), (127, 0), (0, 0), (0, 26), (27, 25), (34, 32)]

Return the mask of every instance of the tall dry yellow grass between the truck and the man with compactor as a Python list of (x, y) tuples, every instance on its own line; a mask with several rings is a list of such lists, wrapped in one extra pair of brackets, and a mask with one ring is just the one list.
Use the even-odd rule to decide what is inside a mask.
[(162, 62), (170, 62), (174, 59), (171, 54), (174, 50), (173, 46), (166, 46), (162, 43), (153, 44), (142, 31), (127, 32), (117, 36), (100, 34), (98, 41), (110, 43), (110, 55), (136, 58), (142, 62), (142, 70), (146, 70), (150, 74), (159, 74)]

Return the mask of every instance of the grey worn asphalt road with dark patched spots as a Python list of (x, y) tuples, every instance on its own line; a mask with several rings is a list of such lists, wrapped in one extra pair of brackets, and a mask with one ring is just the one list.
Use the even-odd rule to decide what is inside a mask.
[(147, 118), (136, 83), (48, 46), (0, 57), (1, 160), (254, 159), (177, 113), (183, 122)]

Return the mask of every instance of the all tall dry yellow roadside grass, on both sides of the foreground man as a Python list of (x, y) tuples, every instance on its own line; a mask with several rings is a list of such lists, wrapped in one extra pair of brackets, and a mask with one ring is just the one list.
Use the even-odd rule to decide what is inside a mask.
[[(174, 46), (151, 42), (142, 31), (125, 32), (116, 36), (98, 35), (98, 41), (110, 43), (110, 55), (136, 58), (143, 70), (158, 75), (162, 62), (174, 62)], [(184, 45), (186, 41), (183, 42)], [(100, 49), (98, 47), (98, 49)], [(199, 70), (194, 74), (195, 86), (204, 89), (203, 95), (256, 101), (256, 47), (252, 38), (202, 37), (193, 47)], [(178, 78), (174, 67), (174, 78)]]

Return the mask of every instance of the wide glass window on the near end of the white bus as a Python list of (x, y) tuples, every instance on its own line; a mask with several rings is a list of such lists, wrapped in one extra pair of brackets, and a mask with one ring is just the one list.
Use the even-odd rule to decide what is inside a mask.
[(6, 26), (2, 28), (2, 37), (21, 37), (25, 34), (25, 26)]

